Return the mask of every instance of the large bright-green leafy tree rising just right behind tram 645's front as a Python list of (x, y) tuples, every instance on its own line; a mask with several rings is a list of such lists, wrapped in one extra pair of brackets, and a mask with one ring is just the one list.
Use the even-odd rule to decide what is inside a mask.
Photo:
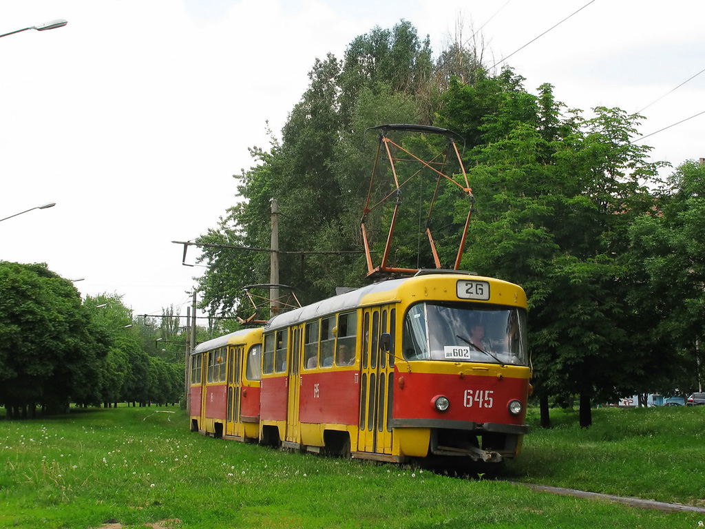
[[(639, 367), (627, 336), (630, 283), (615, 256), (653, 203), (644, 184), (658, 165), (632, 142), (638, 116), (597, 108), (594, 118), (559, 118), (550, 85), (536, 97), (521, 83), (506, 69), (481, 83), (497, 106), (472, 131), (467, 166), (477, 215), (463, 265), (525, 287), (537, 392), (580, 394), (587, 426), (590, 399), (625, 389), (619, 374)], [(446, 121), (472, 113), (476, 93), (451, 89)]]

